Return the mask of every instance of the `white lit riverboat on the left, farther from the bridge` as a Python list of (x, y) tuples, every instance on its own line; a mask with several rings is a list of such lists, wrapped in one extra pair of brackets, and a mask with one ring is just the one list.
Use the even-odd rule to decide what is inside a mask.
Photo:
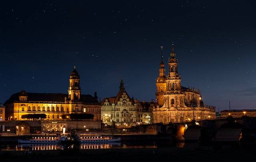
[(63, 137), (32, 137), (29, 140), (18, 140), (19, 144), (51, 144), (60, 143)]

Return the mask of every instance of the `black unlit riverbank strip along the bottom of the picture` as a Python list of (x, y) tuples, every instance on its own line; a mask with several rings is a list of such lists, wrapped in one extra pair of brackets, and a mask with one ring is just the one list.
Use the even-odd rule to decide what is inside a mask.
[(197, 147), (166, 147), (166, 148), (125, 148), (103, 150), (40, 150), (40, 151), (0, 151), (1, 161), (35, 161), (35, 162), (86, 162), (98, 161), (254, 161), (256, 146), (197, 146)]

